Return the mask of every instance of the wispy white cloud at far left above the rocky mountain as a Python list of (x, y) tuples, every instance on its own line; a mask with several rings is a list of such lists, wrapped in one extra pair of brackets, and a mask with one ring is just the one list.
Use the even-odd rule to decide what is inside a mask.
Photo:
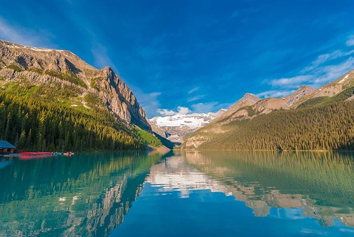
[(0, 38), (26, 46), (55, 48), (51, 43), (53, 37), (47, 31), (34, 31), (18, 27), (0, 17)]

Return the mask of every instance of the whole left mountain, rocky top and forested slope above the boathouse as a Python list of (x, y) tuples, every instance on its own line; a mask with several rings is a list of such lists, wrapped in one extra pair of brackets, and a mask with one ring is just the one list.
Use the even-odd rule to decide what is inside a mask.
[(162, 145), (121, 78), (69, 51), (0, 41), (0, 88), (0, 136), (20, 148)]

